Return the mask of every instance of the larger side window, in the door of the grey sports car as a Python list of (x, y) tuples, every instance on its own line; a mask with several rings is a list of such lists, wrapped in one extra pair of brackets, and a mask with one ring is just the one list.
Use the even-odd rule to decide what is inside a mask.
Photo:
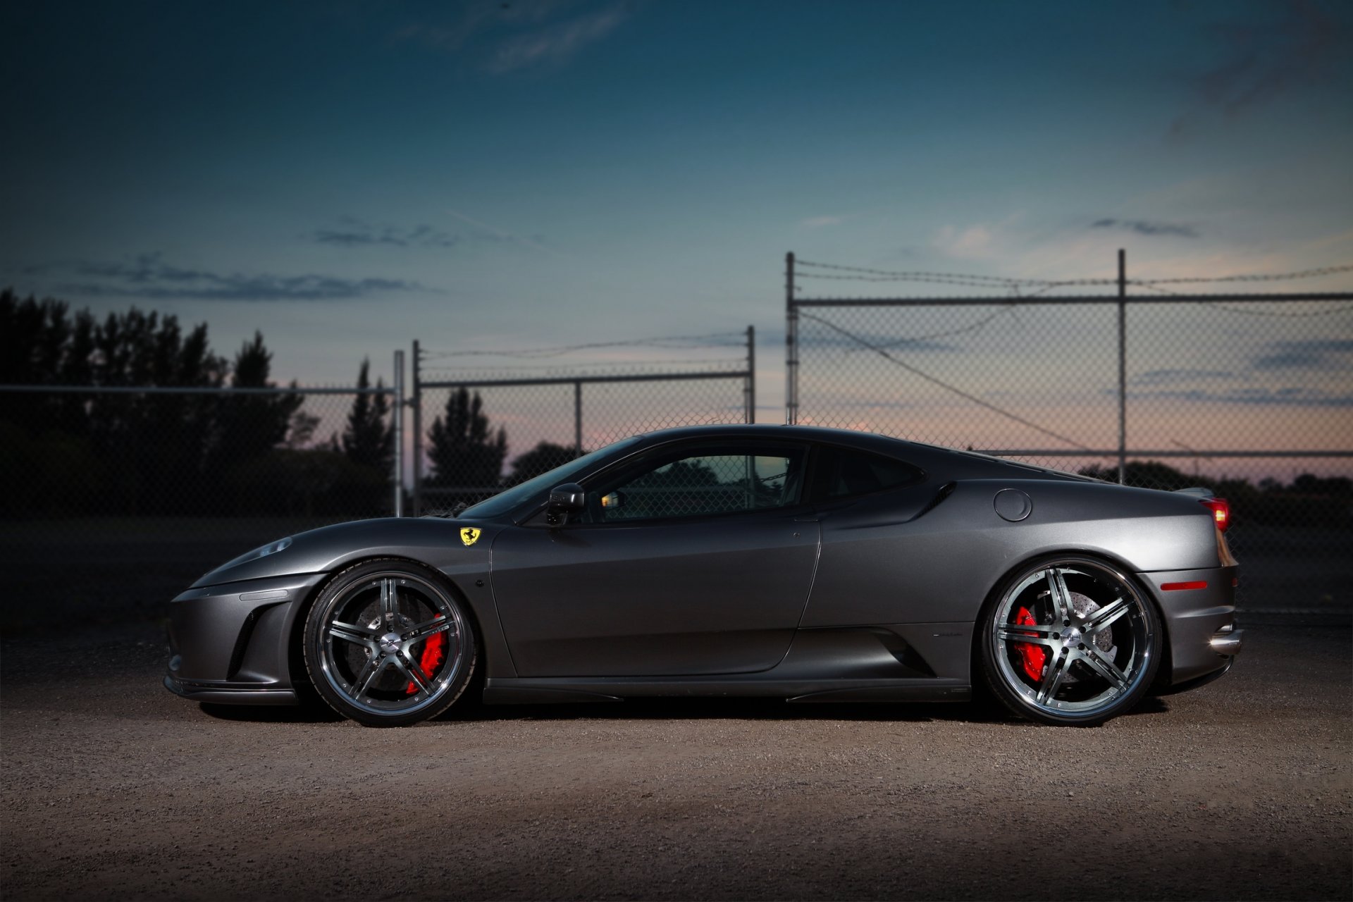
[(797, 449), (702, 449), (659, 458), (602, 484), (591, 519), (617, 523), (792, 506), (798, 502), (801, 467)]

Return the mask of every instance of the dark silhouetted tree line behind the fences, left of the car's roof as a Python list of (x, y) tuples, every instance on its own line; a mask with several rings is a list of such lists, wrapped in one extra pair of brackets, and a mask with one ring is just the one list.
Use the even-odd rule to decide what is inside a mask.
[[(60, 300), (0, 292), (0, 384), (276, 388), (271, 371), (261, 333), (227, 358), (211, 349), (206, 323), (185, 329), (176, 316), (137, 308), (96, 319)], [(356, 385), (371, 387), (367, 360)], [(388, 395), (354, 394), (342, 430), (329, 437), (317, 434), (321, 417), (304, 400), (303, 389), (3, 392), (0, 513), (388, 513), (395, 454)], [(543, 442), (520, 456), (505, 480), (506, 431), (491, 429), (479, 395), (464, 391), (452, 394), (428, 438), (432, 485), (491, 490), (574, 456)]]

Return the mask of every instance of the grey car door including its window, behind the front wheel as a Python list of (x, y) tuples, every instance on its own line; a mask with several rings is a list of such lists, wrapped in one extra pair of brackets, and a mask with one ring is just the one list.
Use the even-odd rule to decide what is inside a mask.
[(521, 676), (769, 669), (817, 561), (800, 506), (806, 449), (683, 444), (584, 484), (580, 522), (505, 529), (492, 586)]

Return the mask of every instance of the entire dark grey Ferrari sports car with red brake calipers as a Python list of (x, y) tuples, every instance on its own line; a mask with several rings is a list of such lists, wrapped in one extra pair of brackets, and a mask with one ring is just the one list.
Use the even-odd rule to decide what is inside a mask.
[(963, 702), (1095, 725), (1226, 672), (1223, 500), (865, 433), (693, 426), (456, 517), (269, 542), (170, 603), (165, 686), (369, 726), (636, 696)]

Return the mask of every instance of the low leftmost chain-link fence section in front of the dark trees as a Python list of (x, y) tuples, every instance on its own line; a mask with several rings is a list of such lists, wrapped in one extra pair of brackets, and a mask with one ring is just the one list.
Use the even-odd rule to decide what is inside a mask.
[(399, 410), (391, 388), (0, 387), (4, 627), (157, 615), (250, 548), (391, 515)]

